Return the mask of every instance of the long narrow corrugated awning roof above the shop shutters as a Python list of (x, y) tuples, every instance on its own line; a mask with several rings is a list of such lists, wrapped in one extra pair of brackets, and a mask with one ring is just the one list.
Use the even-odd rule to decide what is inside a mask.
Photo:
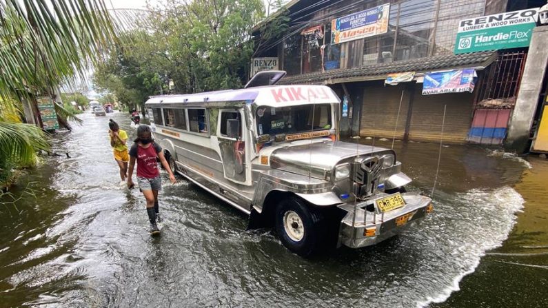
[(398, 72), (416, 72), (417, 74), (434, 70), (456, 68), (476, 68), (482, 70), (497, 57), (496, 52), (472, 52), (468, 54), (447, 54), (443, 56), (419, 58), (390, 63), (378, 63), (361, 68), (336, 69), (325, 72), (286, 76), (278, 84), (293, 83), (343, 83), (385, 79), (387, 74)]

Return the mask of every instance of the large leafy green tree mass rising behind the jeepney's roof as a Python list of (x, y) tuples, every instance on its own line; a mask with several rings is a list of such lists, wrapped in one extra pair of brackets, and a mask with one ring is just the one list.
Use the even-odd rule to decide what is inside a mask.
[(97, 68), (95, 88), (138, 104), (150, 95), (241, 88), (254, 52), (252, 28), (263, 17), (261, 0), (168, 0), (150, 7)]

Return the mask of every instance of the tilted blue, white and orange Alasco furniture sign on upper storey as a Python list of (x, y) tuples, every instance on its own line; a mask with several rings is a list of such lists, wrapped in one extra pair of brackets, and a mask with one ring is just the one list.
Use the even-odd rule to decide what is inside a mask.
[(331, 43), (338, 44), (388, 32), (390, 4), (349, 14), (331, 21)]

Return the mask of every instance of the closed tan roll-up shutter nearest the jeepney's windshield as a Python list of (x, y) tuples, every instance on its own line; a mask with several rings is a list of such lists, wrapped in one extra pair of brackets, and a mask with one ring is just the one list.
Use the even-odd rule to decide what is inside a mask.
[[(405, 92), (400, 108), (402, 90)], [(397, 119), (396, 139), (403, 138), (409, 109), (409, 91), (405, 90), (405, 85), (386, 85), (385, 87), (383, 83), (375, 83), (375, 85), (366, 86), (364, 91), (360, 135), (392, 138)], [(399, 117), (398, 109), (400, 109)]]

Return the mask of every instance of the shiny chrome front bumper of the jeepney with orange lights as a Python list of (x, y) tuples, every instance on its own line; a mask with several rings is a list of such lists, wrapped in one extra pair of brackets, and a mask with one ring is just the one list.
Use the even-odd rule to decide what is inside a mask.
[[(347, 214), (341, 220), (338, 245), (351, 248), (375, 245), (418, 225), (427, 216), (429, 209), (432, 209), (432, 199), (427, 196), (416, 193), (404, 193), (401, 196), (406, 205), (386, 213), (381, 213), (376, 208), (374, 199), (357, 205), (339, 205)], [(374, 212), (367, 211), (367, 205), (373, 205)]]

